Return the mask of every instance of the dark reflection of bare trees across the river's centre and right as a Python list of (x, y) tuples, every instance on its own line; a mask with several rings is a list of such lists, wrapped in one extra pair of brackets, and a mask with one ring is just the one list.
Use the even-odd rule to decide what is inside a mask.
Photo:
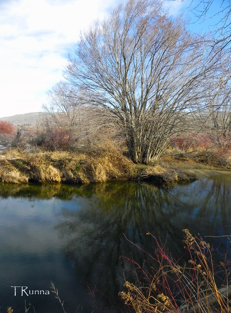
[[(230, 178), (218, 176), (170, 188), (135, 182), (87, 186), (87, 208), (78, 212), (64, 208), (64, 220), (56, 226), (61, 236), (68, 237), (66, 257), (73, 260), (83, 281), (92, 287), (97, 283), (98, 290), (107, 289), (106, 295), (117, 299), (127, 269), (119, 256), (132, 252), (139, 264), (147, 258), (123, 234), (150, 254), (155, 243), (146, 235), (148, 231), (162, 244), (168, 238), (166, 247), (176, 257), (183, 253), (184, 228), (202, 236), (227, 234), (226, 226), (231, 224), (230, 182)], [(220, 242), (218, 238), (207, 241), (216, 247)], [(227, 239), (222, 243), (220, 248), (225, 251)], [(129, 275), (127, 270), (125, 275)]]

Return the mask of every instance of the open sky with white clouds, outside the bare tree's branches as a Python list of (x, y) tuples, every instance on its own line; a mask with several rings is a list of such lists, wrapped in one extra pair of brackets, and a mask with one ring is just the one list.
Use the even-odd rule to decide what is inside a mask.
[[(125, 0), (0, 0), (0, 117), (42, 111), (46, 91), (63, 79), (80, 30), (120, 2)], [(164, 8), (173, 17), (184, 11), (196, 31), (216, 23), (199, 23), (190, 3), (166, 0)]]

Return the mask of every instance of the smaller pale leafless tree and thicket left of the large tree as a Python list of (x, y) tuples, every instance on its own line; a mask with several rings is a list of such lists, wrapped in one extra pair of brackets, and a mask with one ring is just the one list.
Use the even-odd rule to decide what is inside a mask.
[(46, 136), (42, 145), (55, 149), (90, 146), (92, 149), (120, 146), (121, 130), (104, 108), (87, 104), (67, 82), (59, 82), (48, 91), (45, 121)]

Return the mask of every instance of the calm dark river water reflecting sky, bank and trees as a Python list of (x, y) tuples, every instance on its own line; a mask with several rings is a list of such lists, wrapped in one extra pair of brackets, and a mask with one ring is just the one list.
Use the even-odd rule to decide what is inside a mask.
[[(50, 281), (67, 312), (113, 311), (120, 303), (123, 270), (120, 256), (142, 262), (144, 256), (126, 237), (149, 253), (165, 242), (173, 255), (183, 252), (183, 228), (193, 234), (231, 234), (231, 177), (218, 176), (170, 188), (136, 182), (88, 186), (0, 184), (0, 311), (61, 312)], [(206, 238), (227, 249), (227, 239)], [(89, 290), (96, 285), (105, 294)], [(29, 295), (25, 290), (48, 290)], [(110, 299), (107, 300), (107, 299)], [(97, 302), (97, 303), (96, 303)], [(79, 307), (78, 307), (79, 306)], [(29, 310), (29, 312), (33, 310)]]

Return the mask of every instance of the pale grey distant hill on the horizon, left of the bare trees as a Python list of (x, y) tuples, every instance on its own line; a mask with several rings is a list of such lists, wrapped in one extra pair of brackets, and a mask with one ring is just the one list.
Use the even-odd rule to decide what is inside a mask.
[(9, 121), (13, 125), (36, 125), (42, 124), (46, 113), (32, 112), (24, 114), (16, 114), (13, 116), (0, 117), (0, 121)]

